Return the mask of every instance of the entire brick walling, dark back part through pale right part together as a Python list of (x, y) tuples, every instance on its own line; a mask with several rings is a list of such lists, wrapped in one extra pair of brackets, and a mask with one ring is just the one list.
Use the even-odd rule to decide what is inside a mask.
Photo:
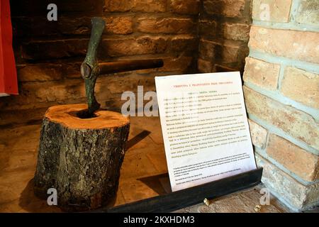
[[(0, 125), (32, 123), (48, 106), (85, 101), (79, 66), (90, 19), (102, 16), (100, 60), (164, 59), (162, 69), (100, 77), (96, 94), (103, 107), (119, 109), (122, 92), (136, 92), (138, 85), (155, 90), (155, 75), (242, 71), (245, 65), (245, 102), (263, 182), (293, 209), (318, 204), (318, 0), (11, 2), (20, 94), (1, 98)], [(46, 19), (49, 3), (58, 6), (57, 22)]]

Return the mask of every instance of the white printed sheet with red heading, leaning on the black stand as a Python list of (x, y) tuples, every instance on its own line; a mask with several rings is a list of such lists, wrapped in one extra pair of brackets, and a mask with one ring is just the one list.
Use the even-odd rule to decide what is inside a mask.
[(256, 169), (240, 72), (155, 84), (173, 192)]

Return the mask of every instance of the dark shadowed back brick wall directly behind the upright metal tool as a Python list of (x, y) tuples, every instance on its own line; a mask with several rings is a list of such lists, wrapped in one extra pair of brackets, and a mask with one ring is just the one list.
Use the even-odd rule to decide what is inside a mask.
[[(57, 4), (57, 21), (47, 21), (50, 3)], [(55, 104), (85, 101), (79, 67), (92, 16), (106, 20), (99, 60), (164, 60), (158, 70), (100, 77), (96, 94), (103, 107), (120, 109), (122, 92), (136, 92), (138, 85), (155, 90), (156, 75), (196, 72), (198, 6), (197, 0), (11, 1), (19, 95), (1, 98), (0, 125), (41, 118)]]

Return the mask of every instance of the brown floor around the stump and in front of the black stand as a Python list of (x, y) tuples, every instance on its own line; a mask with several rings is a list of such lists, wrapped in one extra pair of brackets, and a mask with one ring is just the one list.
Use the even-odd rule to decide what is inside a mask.
[[(146, 199), (169, 191), (159, 118), (131, 118), (128, 151), (116, 199), (109, 206)], [(0, 212), (60, 212), (33, 195), (40, 121), (0, 128)], [(260, 187), (198, 204), (178, 212), (255, 212)], [(260, 212), (287, 211), (276, 199)]]

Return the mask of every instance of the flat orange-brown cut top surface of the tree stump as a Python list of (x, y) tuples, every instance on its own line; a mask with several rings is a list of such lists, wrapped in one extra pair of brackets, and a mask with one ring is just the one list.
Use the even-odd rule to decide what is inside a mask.
[(130, 123), (130, 118), (113, 111), (96, 111), (93, 118), (79, 118), (77, 113), (87, 109), (86, 104), (69, 104), (52, 106), (47, 109), (45, 118), (56, 123), (62, 123), (67, 128), (103, 129), (118, 128)]

